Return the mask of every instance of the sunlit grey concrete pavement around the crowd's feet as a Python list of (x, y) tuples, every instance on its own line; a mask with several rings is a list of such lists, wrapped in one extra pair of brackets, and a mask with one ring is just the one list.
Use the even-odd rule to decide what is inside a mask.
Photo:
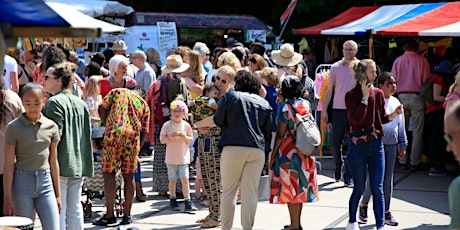
[[(125, 228), (138, 229), (199, 229), (195, 221), (208, 214), (207, 207), (199, 206), (197, 212), (175, 212), (168, 209), (169, 200), (155, 196), (151, 191), (152, 157), (142, 157), (142, 182), (147, 202), (135, 201), (132, 208), (134, 222)], [(319, 201), (303, 205), (302, 226), (304, 229), (345, 229), (348, 221), (348, 199), (352, 189), (343, 187), (342, 182), (333, 179), (332, 159), (319, 159), (322, 170), (318, 171)], [(402, 171), (396, 169), (395, 188), (391, 203), (393, 216), (399, 226), (386, 229), (448, 229), (450, 222), (447, 190), (453, 176), (430, 177), (427, 172)], [(193, 185), (193, 182), (192, 182)], [(117, 229), (118, 226), (99, 227), (91, 221), (105, 212), (104, 200), (93, 200), (93, 215), (85, 220), (85, 229)], [(372, 201), (371, 201), (372, 202)], [(183, 203), (180, 207), (183, 210)], [(234, 229), (242, 229), (240, 208), (235, 211)], [(118, 219), (118, 222), (121, 218)], [(289, 224), (286, 205), (269, 204), (259, 200), (254, 229), (282, 229)], [(369, 206), (369, 222), (361, 229), (375, 229), (372, 205)], [(41, 229), (39, 220), (35, 229)], [(216, 228), (220, 229), (220, 228)]]

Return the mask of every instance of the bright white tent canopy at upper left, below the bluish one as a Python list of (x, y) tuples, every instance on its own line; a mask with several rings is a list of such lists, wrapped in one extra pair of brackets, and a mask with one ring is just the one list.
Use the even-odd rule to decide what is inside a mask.
[(104, 33), (113, 33), (113, 32), (123, 32), (126, 28), (122, 26), (117, 26), (97, 20), (88, 15), (85, 15), (67, 4), (64, 3), (55, 3), (55, 2), (46, 2), (46, 4), (58, 13), (62, 18), (70, 23), (72, 27), (76, 28), (101, 28)]

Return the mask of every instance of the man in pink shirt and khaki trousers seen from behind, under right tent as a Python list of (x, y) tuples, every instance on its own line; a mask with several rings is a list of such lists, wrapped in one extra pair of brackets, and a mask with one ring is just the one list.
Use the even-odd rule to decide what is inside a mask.
[[(396, 75), (398, 95), (401, 104), (404, 105), (406, 119), (406, 132), (409, 127), (409, 119), (412, 118), (412, 144), (410, 154), (399, 160), (402, 168), (417, 171), (420, 169), (420, 160), (423, 151), (423, 127), (425, 125), (425, 100), (420, 96), (423, 81), (430, 75), (428, 60), (417, 54), (418, 43), (409, 40), (404, 44), (404, 54), (399, 56), (393, 63), (391, 72)], [(410, 162), (407, 159), (410, 157)]]

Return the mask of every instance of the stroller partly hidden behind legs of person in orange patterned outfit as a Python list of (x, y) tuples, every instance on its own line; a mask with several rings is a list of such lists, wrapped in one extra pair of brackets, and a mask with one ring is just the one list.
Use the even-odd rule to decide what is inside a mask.
[[(115, 215), (116, 217), (123, 216), (124, 200), (121, 196), (121, 186), (123, 183), (123, 177), (120, 172), (115, 174), (115, 182), (117, 191), (115, 194)], [(102, 162), (94, 162), (94, 175), (88, 177), (83, 182), (86, 187), (86, 201), (82, 201), (83, 214), (87, 218), (91, 218), (93, 202), (92, 199), (104, 197), (104, 177), (102, 175)]]

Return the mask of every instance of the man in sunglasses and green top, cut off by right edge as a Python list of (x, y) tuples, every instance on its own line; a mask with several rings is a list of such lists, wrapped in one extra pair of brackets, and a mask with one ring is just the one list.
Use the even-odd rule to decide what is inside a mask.
[[(444, 139), (446, 150), (453, 152), (460, 161), (460, 100), (452, 102), (444, 121)], [(455, 178), (449, 187), (450, 226), (449, 229), (460, 229), (460, 176)]]

